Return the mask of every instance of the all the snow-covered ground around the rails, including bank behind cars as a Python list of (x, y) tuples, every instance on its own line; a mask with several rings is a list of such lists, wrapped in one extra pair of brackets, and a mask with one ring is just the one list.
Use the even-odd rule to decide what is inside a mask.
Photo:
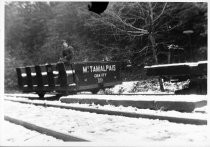
[[(173, 94), (181, 89), (185, 83), (164, 83), (166, 92), (159, 91), (156, 80), (123, 82), (112, 89), (100, 91), (99, 94)], [(17, 95), (17, 94), (16, 94)], [(19, 94), (20, 97), (24, 96)], [(37, 97), (34, 94), (26, 94), (27, 97)], [(49, 95), (46, 95), (49, 96)], [(7, 96), (8, 97), (8, 96)], [(14, 97), (13, 97), (14, 98)], [(23, 99), (23, 98), (19, 98)], [(32, 100), (39, 102), (40, 100)], [(43, 102), (43, 101), (42, 101)], [(61, 104), (59, 101), (47, 101), (48, 103)], [(135, 113), (147, 113), (158, 115), (187, 116), (206, 119), (207, 107), (195, 109), (193, 113), (180, 113), (176, 111), (154, 111), (149, 109), (137, 109), (134, 107), (114, 107), (111, 105), (95, 104), (63, 104), (75, 107), (90, 107), (114, 111), (126, 111)], [(202, 113), (198, 113), (202, 112)], [(18, 118), (36, 124), (38, 126), (53, 128), (73, 136), (78, 136), (99, 145), (141, 145), (146, 146), (208, 146), (207, 125), (189, 125), (171, 123), (163, 120), (151, 120), (144, 118), (128, 118), (123, 116), (102, 115), (89, 112), (80, 112), (68, 109), (34, 106), (15, 102), (4, 101), (4, 113), (10, 117)], [(20, 133), (21, 132), (21, 133)], [(63, 141), (27, 130), (21, 126), (4, 123), (3, 144), (37, 146), (65, 145)], [(58, 144), (56, 144), (58, 143)], [(103, 144), (102, 144), (103, 143)], [(87, 145), (87, 143), (83, 144)]]

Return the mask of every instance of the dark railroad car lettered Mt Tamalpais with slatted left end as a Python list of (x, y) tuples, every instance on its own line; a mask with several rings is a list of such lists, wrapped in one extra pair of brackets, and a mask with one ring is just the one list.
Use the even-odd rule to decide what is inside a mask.
[(58, 95), (75, 94), (80, 91), (97, 93), (122, 83), (120, 62), (63, 62), (16, 68), (18, 86), (26, 93)]

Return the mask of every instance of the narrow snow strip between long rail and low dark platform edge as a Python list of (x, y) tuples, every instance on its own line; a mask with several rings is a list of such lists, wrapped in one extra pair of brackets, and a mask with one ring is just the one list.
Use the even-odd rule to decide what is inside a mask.
[[(80, 96), (80, 95), (79, 95)], [(81, 97), (84, 95), (81, 95)], [(102, 95), (100, 95), (103, 98)], [(22, 101), (31, 101), (35, 103), (43, 103), (43, 100), (26, 100), (25, 98), (13, 98), (7, 96), (11, 100), (22, 100)], [(116, 96), (118, 97), (118, 96)], [(120, 99), (126, 99), (120, 97)], [(124, 96), (126, 97), (126, 96)], [(150, 110), (150, 109), (138, 109), (136, 107), (124, 107), (124, 106), (113, 106), (113, 105), (96, 105), (92, 104), (80, 104), (80, 103), (62, 103), (60, 101), (47, 101), (44, 103), (61, 105), (61, 106), (72, 106), (72, 107), (82, 107), (82, 108), (94, 108), (94, 109), (102, 109), (102, 110), (111, 110), (111, 111), (122, 111), (122, 112), (131, 112), (131, 113), (140, 113), (140, 114), (149, 114), (149, 115), (162, 115), (162, 116), (171, 116), (171, 117), (183, 117), (183, 118), (194, 118), (194, 119), (207, 119), (207, 106), (196, 108), (192, 113), (188, 112), (178, 112), (178, 111), (162, 111), (162, 110)]]

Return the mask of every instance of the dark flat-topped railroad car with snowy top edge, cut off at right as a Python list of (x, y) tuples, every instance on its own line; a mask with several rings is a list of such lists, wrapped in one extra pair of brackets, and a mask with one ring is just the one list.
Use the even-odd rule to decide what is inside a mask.
[(175, 94), (207, 94), (207, 61), (160, 64), (144, 68), (147, 76), (157, 76), (171, 82), (190, 81), (187, 88), (177, 90)]

